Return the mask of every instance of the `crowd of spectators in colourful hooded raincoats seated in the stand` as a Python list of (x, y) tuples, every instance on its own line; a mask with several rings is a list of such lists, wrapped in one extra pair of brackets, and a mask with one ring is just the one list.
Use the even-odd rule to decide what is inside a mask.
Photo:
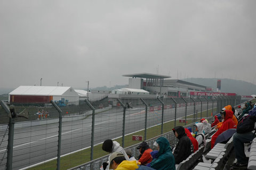
[(108, 162), (103, 163), (101, 169), (175, 169), (175, 164), (180, 164), (199, 147), (205, 146), (205, 136), (212, 132), (211, 127), (216, 131), (211, 136), (211, 148), (217, 144), (220, 134), (228, 129), (236, 129), (233, 135), (236, 161), (231, 166), (245, 167), (248, 159), (244, 153), (244, 143), (252, 141), (255, 137), (253, 130), (256, 122), (256, 104), (253, 109), (251, 108), (250, 102), (247, 102), (243, 109), (239, 106), (234, 109), (228, 105), (219, 115), (214, 116), (212, 124), (207, 119), (201, 119), (200, 122), (195, 123), (194, 133), (190, 127), (176, 126), (172, 129), (178, 139), (174, 148), (170, 147), (165, 137), (159, 137), (155, 141), (155, 148), (150, 148), (148, 143), (143, 141), (137, 147), (140, 153), (138, 159), (134, 158), (131, 149), (124, 150), (118, 142), (108, 139), (103, 142), (102, 150), (110, 155)]

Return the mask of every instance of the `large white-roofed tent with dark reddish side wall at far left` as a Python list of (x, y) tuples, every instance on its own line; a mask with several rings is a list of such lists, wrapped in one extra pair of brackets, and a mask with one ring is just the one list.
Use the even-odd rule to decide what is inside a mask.
[(72, 87), (62, 86), (19, 86), (9, 93), (10, 103), (46, 103), (63, 100), (79, 101), (79, 95)]

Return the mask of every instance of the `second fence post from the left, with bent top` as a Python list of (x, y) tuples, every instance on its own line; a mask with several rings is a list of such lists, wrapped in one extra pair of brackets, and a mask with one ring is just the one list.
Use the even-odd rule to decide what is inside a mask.
[(51, 100), (52, 105), (59, 112), (59, 134), (58, 134), (58, 153), (57, 153), (57, 169), (60, 169), (60, 155), (61, 155), (61, 129), (62, 129), (62, 110)]

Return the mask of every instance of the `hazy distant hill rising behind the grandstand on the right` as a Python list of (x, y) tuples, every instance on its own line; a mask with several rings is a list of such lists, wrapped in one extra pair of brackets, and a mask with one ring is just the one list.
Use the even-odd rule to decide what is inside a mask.
[[(218, 79), (219, 78), (185, 78), (182, 80), (212, 87), (213, 90), (216, 91)], [(223, 78), (221, 79), (221, 92), (237, 93), (239, 95), (252, 95), (256, 94), (256, 85), (242, 80)]]

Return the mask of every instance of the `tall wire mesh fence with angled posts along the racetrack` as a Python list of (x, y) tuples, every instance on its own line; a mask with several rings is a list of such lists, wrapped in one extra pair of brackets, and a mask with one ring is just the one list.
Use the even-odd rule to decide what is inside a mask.
[[(110, 106), (107, 99), (66, 106), (53, 101), (33, 106), (1, 101), (0, 169), (68, 169), (77, 165), (98, 169), (107, 158), (101, 149), (106, 139), (118, 141), (138, 156), (134, 146), (140, 141), (133, 141), (132, 135), (142, 136), (151, 146), (162, 135), (174, 145), (175, 137), (169, 133), (174, 126), (188, 126), (201, 118), (211, 121), (221, 108), (240, 101), (236, 97), (215, 97), (118, 102), (119, 107)], [(23, 118), (25, 114), (28, 119)]]

